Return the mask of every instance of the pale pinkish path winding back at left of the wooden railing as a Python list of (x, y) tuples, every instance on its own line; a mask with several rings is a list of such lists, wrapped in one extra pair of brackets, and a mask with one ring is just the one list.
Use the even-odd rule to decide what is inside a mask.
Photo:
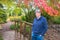
[(3, 39), (4, 40), (15, 40), (15, 31), (10, 30), (10, 25), (12, 22), (3, 24)]

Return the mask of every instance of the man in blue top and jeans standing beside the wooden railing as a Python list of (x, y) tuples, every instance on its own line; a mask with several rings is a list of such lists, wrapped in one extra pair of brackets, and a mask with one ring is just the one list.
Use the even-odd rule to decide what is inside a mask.
[(48, 29), (47, 20), (45, 17), (41, 16), (39, 9), (35, 11), (35, 15), (36, 18), (32, 26), (32, 40), (44, 40), (44, 34)]

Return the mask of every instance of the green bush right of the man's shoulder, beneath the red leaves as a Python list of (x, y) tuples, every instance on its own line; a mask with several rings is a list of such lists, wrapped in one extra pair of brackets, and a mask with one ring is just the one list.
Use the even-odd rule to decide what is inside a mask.
[(46, 19), (47, 19), (47, 21), (49, 22), (49, 24), (50, 24), (50, 23), (60, 24), (60, 16), (50, 16), (50, 15), (48, 15), (47, 12), (45, 12), (44, 10), (43, 10), (42, 15), (43, 15), (44, 17), (46, 17)]

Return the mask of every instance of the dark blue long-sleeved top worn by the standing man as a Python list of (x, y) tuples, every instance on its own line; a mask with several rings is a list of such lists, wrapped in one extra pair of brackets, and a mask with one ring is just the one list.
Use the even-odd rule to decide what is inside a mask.
[(32, 26), (32, 32), (34, 34), (42, 35), (46, 33), (48, 29), (47, 20), (41, 16), (39, 19), (35, 18)]

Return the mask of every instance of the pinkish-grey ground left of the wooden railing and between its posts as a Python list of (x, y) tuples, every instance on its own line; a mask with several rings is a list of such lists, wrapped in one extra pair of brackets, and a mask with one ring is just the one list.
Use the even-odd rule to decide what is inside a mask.
[[(20, 40), (20, 34), (15, 34), (15, 30), (10, 30), (10, 25), (14, 24), (14, 22), (7, 22), (2, 24), (2, 36), (3, 40)], [(21, 34), (21, 40), (23, 40), (23, 35)], [(26, 38), (27, 40), (27, 38)]]

